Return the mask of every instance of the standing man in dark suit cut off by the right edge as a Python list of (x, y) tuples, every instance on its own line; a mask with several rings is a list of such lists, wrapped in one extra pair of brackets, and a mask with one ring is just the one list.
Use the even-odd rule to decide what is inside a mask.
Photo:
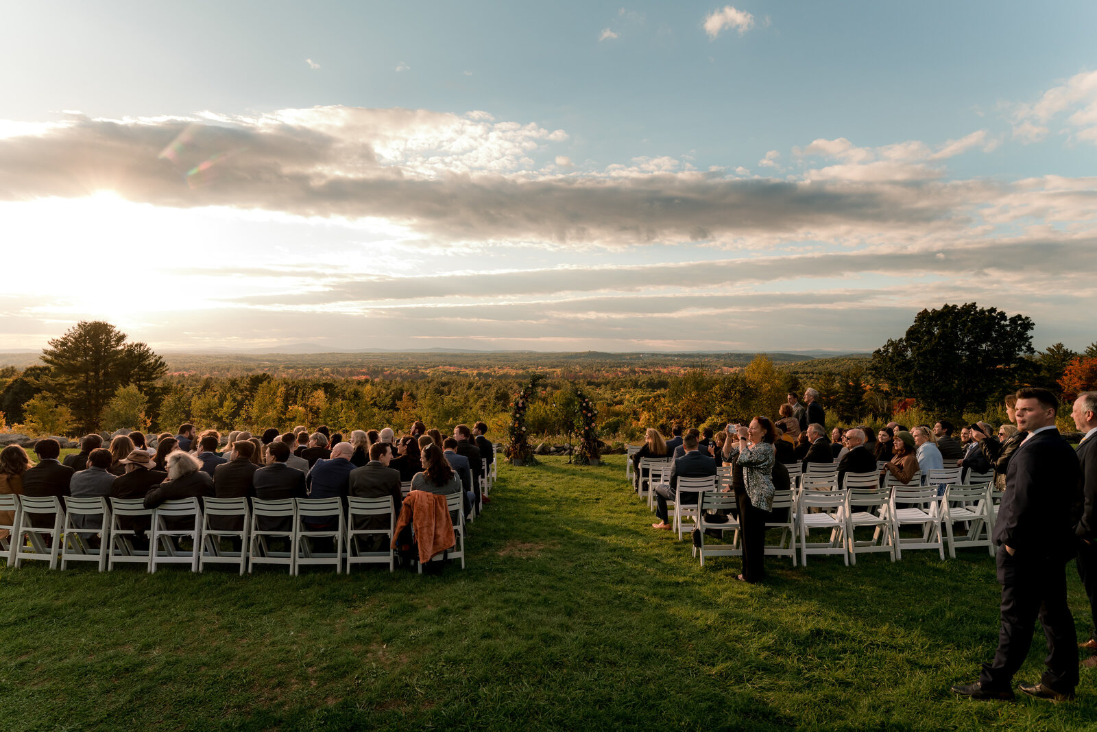
[[(1074, 401), (1074, 426), (1084, 435), (1075, 452), (1082, 469), (1082, 504), (1075, 506), (1074, 533), (1078, 538), (1078, 577), (1089, 597), (1089, 615), (1094, 629), (1082, 644), (1097, 651), (1097, 392), (1086, 392)], [(1097, 667), (1097, 655), (1082, 662), (1087, 668)]]

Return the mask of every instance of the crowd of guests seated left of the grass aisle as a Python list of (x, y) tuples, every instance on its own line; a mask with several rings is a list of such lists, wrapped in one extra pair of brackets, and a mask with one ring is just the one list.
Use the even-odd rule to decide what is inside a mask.
[[(140, 498), (146, 508), (190, 497), (391, 497), (399, 513), (402, 484), (410, 483), (411, 489), (430, 494), (461, 493), (466, 514), (473, 508), (479, 513), (489, 503), (480, 494), (482, 460), (488, 469), (495, 460), (487, 431), (483, 421), (472, 428), (457, 425), (453, 437), (443, 440), (439, 430), (416, 421), (410, 433), (399, 438), (386, 427), (353, 430), (348, 442), (324, 425), (313, 432), (303, 426), (284, 435), (268, 429), (262, 437), (233, 430), (222, 450), (216, 430), (200, 432), (193, 424), (184, 424), (176, 435), (160, 435), (155, 450), (140, 432), (113, 438), (109, 449), (102, 437), (88, 435), (80, 441), (80, 451), (68, 455), (64, 464), (58, 461), (57, 440), (43, 439), (35, 444), (36, 463), (22, 447), (0, 451), (0, 493)], [(13, 517), (0, 516), (4, 518), (10, 523)], [(35, 526), (43, 521), (41, 517), (34, 520)], [(73, 525), (100, 529), (99, 520), (75, 516)], [(147, 537), (140, 533), (149, 528), (147, 517), (120, 520), (122, 528), (139, 532), (138, 548), (147, 547)], [(211, 520), (217, 522), (214, 528), (239, 530), (229, 525), (242, 519)], [(337, 520), (336, 516), (314, 518), (315, 526), (309, 528), (327, 528)], [(7, 532), (0, 538), (7, 538)]]

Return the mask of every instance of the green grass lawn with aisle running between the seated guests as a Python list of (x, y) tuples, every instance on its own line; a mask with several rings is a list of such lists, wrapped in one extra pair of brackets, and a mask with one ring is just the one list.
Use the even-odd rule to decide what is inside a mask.
[(501, 466), (464, 572), (3, 568), (0, 729), (1097, 727), (1086, 669), (1072, 703), (949, 692), (997, 639), (985, 552), (770, 558), (747, 586), (652, 520), (622, 457), (548, 458)]

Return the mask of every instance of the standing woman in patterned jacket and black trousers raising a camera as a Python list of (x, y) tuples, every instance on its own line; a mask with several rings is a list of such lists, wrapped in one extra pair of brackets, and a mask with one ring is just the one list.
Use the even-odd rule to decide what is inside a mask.
[(744, 582), (761, 582), (766, 576), (762, 564), (766, 551), (766, 521), (773, 507), (773, 463), (777, 453), (773, 442), (777, 430), (768, 417), (758, 416), (749, 427), (739, 425), (735, 435), (724, 441), (724, 461), (743, 469), (742, 484), (734, 478), (735, 503), (739, 507), (739, 527), (743, 530)]

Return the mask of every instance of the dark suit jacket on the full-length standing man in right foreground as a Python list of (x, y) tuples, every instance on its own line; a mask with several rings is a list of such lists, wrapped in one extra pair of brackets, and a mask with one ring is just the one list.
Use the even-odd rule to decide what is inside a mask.
[(1013, 548), (1015, 561), (1065, 561), (1075, 551), (1081, 478), (1078, 455), (1058, 429), (1030, 435), (1009, 460), (994, 543)]

